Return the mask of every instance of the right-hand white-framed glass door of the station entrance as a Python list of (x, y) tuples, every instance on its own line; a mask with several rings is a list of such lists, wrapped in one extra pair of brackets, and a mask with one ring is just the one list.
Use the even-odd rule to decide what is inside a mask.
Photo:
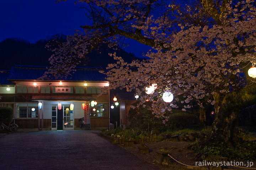
[(74, 130), (74, 110), (70, 111), (70, 105), (63, 106), (63, 130)]

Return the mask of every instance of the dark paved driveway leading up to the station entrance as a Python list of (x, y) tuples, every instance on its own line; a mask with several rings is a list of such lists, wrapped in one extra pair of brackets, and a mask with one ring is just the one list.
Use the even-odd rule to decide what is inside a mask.
[(0, 138), (0, 170), (159, 170), (99, 131), (16, 132)]

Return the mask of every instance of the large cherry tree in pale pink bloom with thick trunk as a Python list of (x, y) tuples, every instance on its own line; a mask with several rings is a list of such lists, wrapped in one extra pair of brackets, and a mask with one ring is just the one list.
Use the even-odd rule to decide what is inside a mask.
[[(150, 100), (153, 113), (164, 122), (173, 108), (186, 111), (193, 103), (202, 108), (212, 104), (216, 116), (206, 142), (239, 141), (239, 110), (256, 100), (254, 79), (247, 74), (256, 63), (255, 1), (201, 0), (185, 6), (164, 0), (79, 2), (86, 4), (92, 23), (54, 49), (48, 73), (74, 71), (98, 43), (113, 47), (125, 38), (137, 40), (152, 47), (149, 59), (126, 63), (110, 54), (117, 62), (104, 72), (109, 88), (136, 91), (140, 105)], [(157, 87), (146, 94), (151, 84)], [(174, 101), (162, 100), (165, 91), (174, 94)]]

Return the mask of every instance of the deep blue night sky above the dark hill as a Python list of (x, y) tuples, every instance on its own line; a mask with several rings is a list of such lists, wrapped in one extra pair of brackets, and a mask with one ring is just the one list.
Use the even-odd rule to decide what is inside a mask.
[[(73, 30), (87, 22), (84, 11), (74, 0), (55, 3), (55, 0), (1, 0), (0, 41), (6, 38), (21, 38), (34, 43), (57, 33), (73, 34)], [(132, 41), (124, 50), (135, 53), (145, 47)]]

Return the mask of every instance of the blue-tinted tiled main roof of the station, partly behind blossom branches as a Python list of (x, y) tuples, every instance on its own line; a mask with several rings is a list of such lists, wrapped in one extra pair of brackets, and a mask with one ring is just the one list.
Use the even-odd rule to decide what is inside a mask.
[[(72, 76), (65, 80), (70, 81), (106, 81), (106, 76), (99, 72), (100, 68), (78, 67)], [(37, 80), (47, 69), (44, 66), (15, 66), (10, 70), (9, 80)], [(56, 79), (51, 79), (56, 80)], [(64, 79), (62, 79), (64, 80)]]

